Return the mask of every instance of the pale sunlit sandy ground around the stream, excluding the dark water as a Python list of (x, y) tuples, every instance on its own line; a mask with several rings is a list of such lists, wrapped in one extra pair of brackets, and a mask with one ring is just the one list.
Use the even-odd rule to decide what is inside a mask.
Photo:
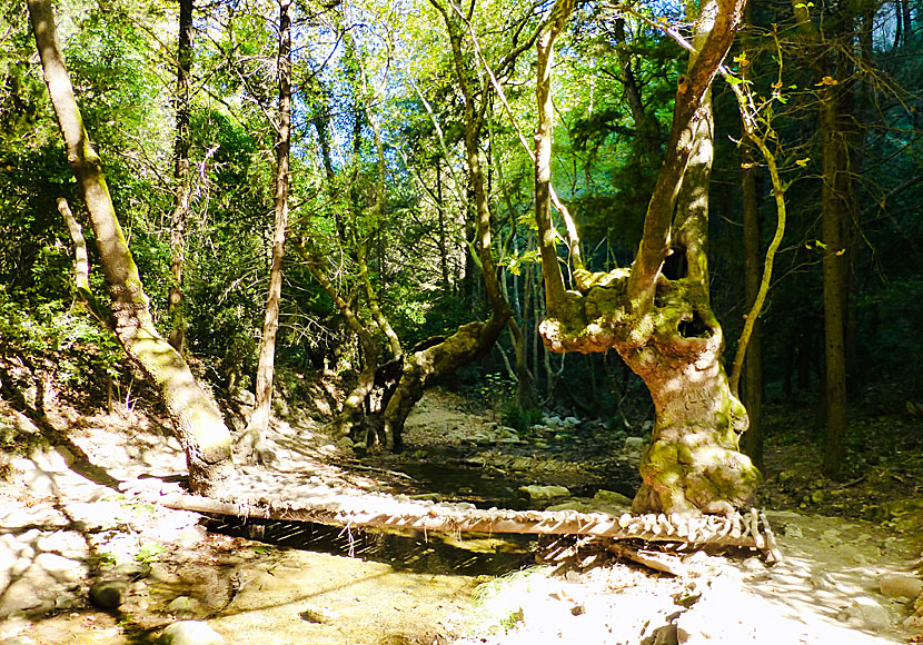
[[(47, 430), (11, 408), (0, 411), (24, 435)], [(921, 633), (912, 598), (882, 593), (883, 576), (920, 579), (920, 536), (867, 523), (771, 512), (785, 553), (771, 567), (756, 554), (692, 552), (671, 556), (681, 575), (669, 576), (587, 549), (556, 573), (545, 566), (495, 578), (518, 569), (523, 542), (360, 539), (298, 527), (286, 528), (288, 543), (274, 537), (302, 547), (294, 548), (208, 533), (196, 514), (125, 493), (139, 478), (173, 483), (183, 474), (178, 443), (157, 424), (128, 410), (47, 423), (66, 445), (36, 441), (4, 462), (0, 643), (145, 643), (178, 618), (205, 619), (228, 643), (260, 644), (872, 645)], [(407, 435), (416, 446), (474, 436), (472, 450), (515, 445), (444, 395), (421, 401)], [(364, 466), (307, 419), (276, 425), (271, 438), (280, 469), (367, 489), (410, 485), (385, 472), (399, 463)], [(125, 582), (118, 611), (88, 603), (98, 580)]]

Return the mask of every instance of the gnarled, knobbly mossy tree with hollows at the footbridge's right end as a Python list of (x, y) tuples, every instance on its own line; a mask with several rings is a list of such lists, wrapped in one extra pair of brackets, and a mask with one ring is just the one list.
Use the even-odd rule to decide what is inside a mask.
[[(570, 3), (558, 0), (563, 14)], [(740, 24), (742, 0), (703, 2), (695, 20), (696, 54), (678, 80), (673, 127), (644, 235), (631, 270), (575, 270), (577, 289), (562, 295), (550, 217), (537, 205), (543, 244), (547, 318), (540, 330), (553, 351), (616, 349), (651, 390), (656, 424), (641, 464), (643, 484), (634, 510), (730, 513), (752, 497), (760, 474), (740, 453), (746, 410), (733, 396), (721, 363), (724, 339), (708, 302), (705, 255), (712, 162), (709, 87)], [(536, 199), (549, 181), (539, 166), (549, 149), (550, 38), (538, 39)], [(542, 51), (547, 48), (547, 51)], [(543, 85), (546, 88), (543, 88)], [(545, 148), (547, 146), (547, 148)], [(550, 247), (550, 248), (549, 248)], [(552, 284), (549, 288), (549, 282)]]

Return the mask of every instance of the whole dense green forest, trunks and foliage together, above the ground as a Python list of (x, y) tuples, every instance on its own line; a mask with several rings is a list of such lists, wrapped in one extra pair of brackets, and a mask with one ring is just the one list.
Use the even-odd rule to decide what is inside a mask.
[(436, 390), (636, 515), (919, 533), (921, 87), (913, 0), (4, 2), (0, 475), (137, 407), (196, 495), (299, 415), (391, 476)]

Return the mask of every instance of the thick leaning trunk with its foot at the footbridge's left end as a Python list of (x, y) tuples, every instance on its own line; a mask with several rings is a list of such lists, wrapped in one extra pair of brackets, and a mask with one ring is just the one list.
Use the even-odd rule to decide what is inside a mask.
[(186, 360), (153, 326), (138, 267), (106, 186), (102, 163), (90, 146), (73, 98), (50, 1), (29, 0), (29, 18), (68, 161), (90, 214), (106, 290), (111, 298), (112, 330), (129, 358), (160, 390), (186, 449), (191, 489), (204, 495), (216, 493), (234, 470), (230, 433)]

